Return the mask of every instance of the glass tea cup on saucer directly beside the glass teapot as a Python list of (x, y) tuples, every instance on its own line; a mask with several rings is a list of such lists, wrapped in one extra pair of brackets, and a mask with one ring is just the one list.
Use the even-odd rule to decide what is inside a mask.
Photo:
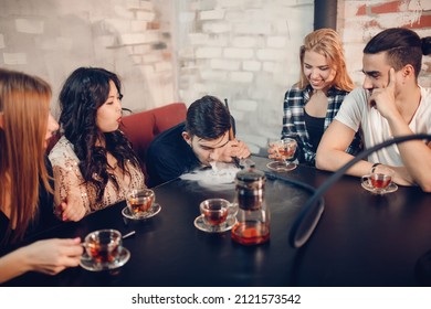
[(238, 206), (223, 199), (208, 199), (200, 203), (203, 223), (210, 227), (223, 226), (236, 215)]

